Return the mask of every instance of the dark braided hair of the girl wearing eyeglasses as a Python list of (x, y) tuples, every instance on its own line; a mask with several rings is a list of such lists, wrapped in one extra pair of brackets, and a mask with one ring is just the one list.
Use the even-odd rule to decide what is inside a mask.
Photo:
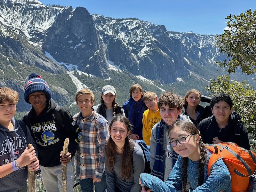
[[(170, 135), (170, 132), (175, 127), (178, 127), (181, 131), (186, 131), (188, 133), (195, 133), (194, 138), (196, 135), (200, 135), (200, 132), (196, 128), (196, 126), (189, 122), (189, 121), (177, 121), (175, 124), (172, 125), (172, 127), (169, 128), (168, 135)], [(205, 144), (201, 141), (199, 141), (199, 148), (200, 148), (200, 158), (199, 158), (199, 164), (198, 164), (198, 183), (197, 186), (201, 186), (204, 183), (204, 166), (206, 164), (207, 160), (207, 150), (205, 148)], [(182, 181), (183, 181), (183, 191), (186, 191), (187, 186), (187, 165), (188, 165), (188, 157), (182, 157)]]

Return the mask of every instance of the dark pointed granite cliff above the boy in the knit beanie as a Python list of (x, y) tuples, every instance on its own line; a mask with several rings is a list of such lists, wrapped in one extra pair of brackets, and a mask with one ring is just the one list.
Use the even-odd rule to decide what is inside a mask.
[(58, 62), (101, 78), (108, 77), (104, 44), (98, 39), (92, 16), (82, 7), (67, 7), (47, 30), (42, 48)]

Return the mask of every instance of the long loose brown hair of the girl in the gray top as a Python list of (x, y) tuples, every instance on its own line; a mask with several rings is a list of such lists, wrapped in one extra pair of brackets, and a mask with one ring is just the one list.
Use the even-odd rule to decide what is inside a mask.
[[(112, 127), (114, 122), (121, 122), (125, 124), (128, 131), (132, 132), (132, 124), (130, 123), (129, 119), (122, 114), (116, 115), (109, 124), (109, 131)], [(130, 132), (130, 134), (131, 134)], [(108, 141), (105, 144), (105, 151), (106, 151), (106, 161), (108, 163), (109, 169), (114, 170), (115, 166), (115, 156), (116, 156), (116, 143), (112, 140), (111, 136), (109, 137)], [(132, 142), (129, 139), (129, 136), (125, 138), (124, 149), (123, 149), (123, 158), (122, 158), (122, 170), (121, 170), (121, 177), (124, 180), (127, 180), (131, 177), (131, 166), (132, 166)]]

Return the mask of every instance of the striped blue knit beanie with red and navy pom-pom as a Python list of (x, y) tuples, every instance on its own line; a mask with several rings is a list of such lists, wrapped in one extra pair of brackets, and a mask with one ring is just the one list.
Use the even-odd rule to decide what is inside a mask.
[(40, 75), (31, 73), (28, 76), (28, 81), (26, 81), (24, 85), (24, 99), (27, 103), (29, 103), (28, 96), (35, 92), (43, 92), (48, 100), (52, 97), (52, 92), (46, 81), (44, 81)]

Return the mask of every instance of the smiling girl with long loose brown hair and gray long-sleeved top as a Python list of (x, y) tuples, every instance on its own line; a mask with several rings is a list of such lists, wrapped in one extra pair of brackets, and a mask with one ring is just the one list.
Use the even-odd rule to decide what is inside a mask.
[[(140, 173), (144, 172), (144, 155), (129, 135), (132, 125), (128, 118), (117, 115), (109, 125), (110, 137), (105, 144), (107, 189), (111, 192), (139, 192)], [(133, 144), (135, 143), (135, 144)]]

